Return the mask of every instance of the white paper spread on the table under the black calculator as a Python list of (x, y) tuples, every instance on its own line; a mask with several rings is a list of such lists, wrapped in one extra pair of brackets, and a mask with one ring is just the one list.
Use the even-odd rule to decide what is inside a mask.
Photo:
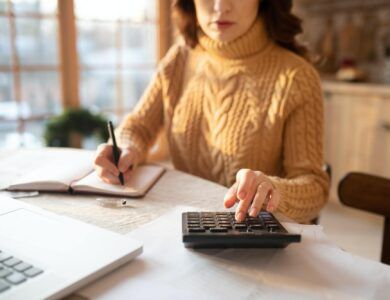
[(285, 249), (191, 250), (178, 207), (131, 232), (144, 253), (84, 288), (93, 299), (386, 299), (390, 267), (344, 252), (320, 226), (284, 224), (302, 235)]

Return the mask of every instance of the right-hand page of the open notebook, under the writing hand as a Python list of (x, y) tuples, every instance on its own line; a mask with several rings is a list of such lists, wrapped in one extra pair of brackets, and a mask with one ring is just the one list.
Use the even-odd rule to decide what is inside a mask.
[(96, 192), (99, 194), (118, 196), (143, 196), (147, 190), (158, 180), (164, 172), (164, 168), (157, 165), (143, 165), (137, 167), (129, 182), (125, 185), (114, 185), (105, 183), (99, 178), (96, 172), (82, 178), (72, 184), (77, 192)]

